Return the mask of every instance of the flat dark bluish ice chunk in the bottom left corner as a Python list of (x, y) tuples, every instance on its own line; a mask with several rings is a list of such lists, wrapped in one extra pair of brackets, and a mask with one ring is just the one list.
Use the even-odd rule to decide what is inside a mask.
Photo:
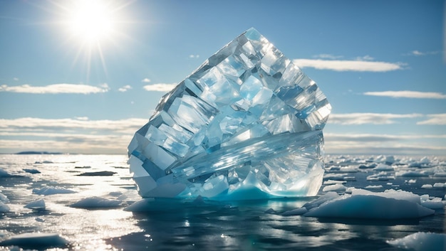
[(38, 250), (50, 247), (66, 247), (68, 240), (56, 233), (22, 233), (0, 242), (0, 246), (19, 246)]

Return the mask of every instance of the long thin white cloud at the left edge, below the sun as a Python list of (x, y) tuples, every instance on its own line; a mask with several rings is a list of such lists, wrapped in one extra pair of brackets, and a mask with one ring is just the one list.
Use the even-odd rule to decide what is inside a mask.
[(8, 86), (1, 85), (0, 92), (19, 92), (19, 93), (33, 93), (33, 94), (58, 94), (58, 93), (73, 93), (73, 94), (90, 94), (99, 92), (108, 92), (110, 88), (107, 84), (102, 84), (100, 87), (82, 84), (54, 84), (45, 86), (31, 86), (19, 85)]

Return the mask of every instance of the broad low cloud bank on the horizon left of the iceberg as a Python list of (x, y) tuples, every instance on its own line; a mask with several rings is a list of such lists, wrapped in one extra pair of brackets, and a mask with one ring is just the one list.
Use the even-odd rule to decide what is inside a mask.
[(0, 119), (0, 152), (125, 154), (133, 134), (147, 121), (138, 118), (88, 120), (88, 117)]

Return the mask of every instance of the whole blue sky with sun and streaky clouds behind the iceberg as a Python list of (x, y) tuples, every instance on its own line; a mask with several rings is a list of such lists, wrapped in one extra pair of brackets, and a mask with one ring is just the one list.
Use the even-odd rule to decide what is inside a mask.
[(445, 1), (80, 3), (0, 1), (0, 153), (125, 154), (172, 85), (254, 27), (331, 102), (327, 154), (445, 155)]

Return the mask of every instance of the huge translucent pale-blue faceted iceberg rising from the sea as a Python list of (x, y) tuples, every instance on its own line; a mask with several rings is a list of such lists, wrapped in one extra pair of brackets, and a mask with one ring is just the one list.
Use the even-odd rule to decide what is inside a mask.
[(174, 90), (128, 146), (142, 197), (314, 196), (331, 105), (250, 28)]

